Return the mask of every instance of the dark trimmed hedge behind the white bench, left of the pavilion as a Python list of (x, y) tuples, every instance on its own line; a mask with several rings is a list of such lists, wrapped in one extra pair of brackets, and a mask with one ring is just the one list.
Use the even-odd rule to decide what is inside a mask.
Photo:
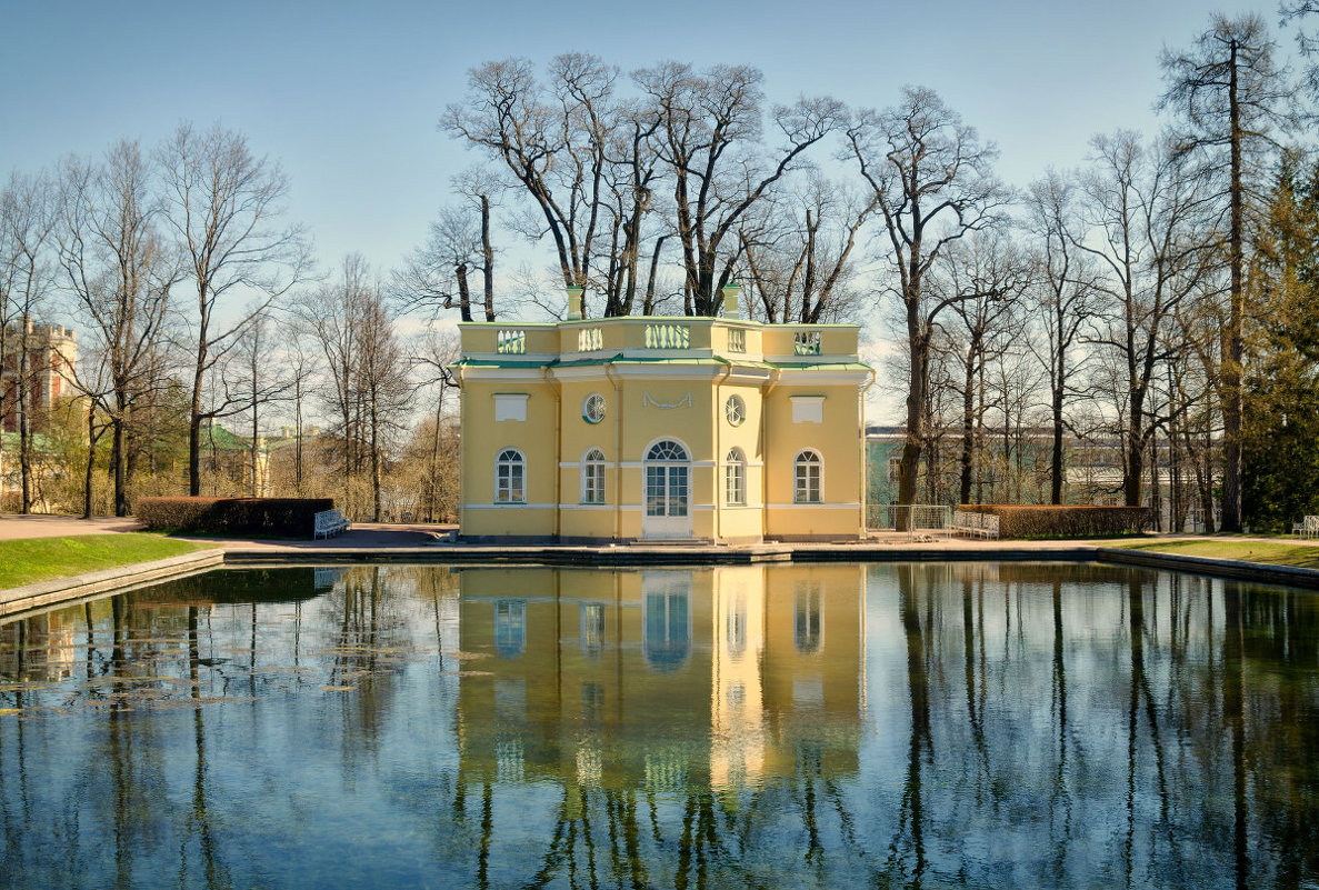
[(136, 516), (148, 529), (310, 538), (332, 509), (328, 497), (140, 497)]

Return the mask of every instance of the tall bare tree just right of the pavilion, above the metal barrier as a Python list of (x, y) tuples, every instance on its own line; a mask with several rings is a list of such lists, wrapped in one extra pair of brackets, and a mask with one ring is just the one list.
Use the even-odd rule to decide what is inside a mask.
[(898, 502), (913, 504), (929, 409), (930, 338), (939, 312), (958, 299), (931, 298), (925, 280), (950, 244), (998, 224), (1010, 194), (993, 175), (995, 146), (981, 142), (933, 90), (906, 87), (898, 105), (860, 112), (847, 137), (878, 200), (897, 281), (892, 293), (905, 310), (910, 364)]

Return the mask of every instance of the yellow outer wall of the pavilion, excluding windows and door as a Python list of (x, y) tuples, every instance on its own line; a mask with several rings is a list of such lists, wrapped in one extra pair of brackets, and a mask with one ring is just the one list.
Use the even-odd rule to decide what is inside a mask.
[[(637, 348), (648, 343), (652, 323), (690, 327), (690, 345)], [(822, 326), (826, 352), (851, 352), (822, 357), (820, 373), (801, 363), (782, 373), (758, 363), (762, 343), (766, 352), (790, 353), (794, 331), (802, 326), (632, 318), (561, 327), (528, 326), (526, 359), (520, 360), (491, 353), (516, 324), (462, 326), (464, 537), (636, 539), (648, 526), (658, 534), (644, 514), (642, 460), (660, 439), (681, 442), (691, 456), (694, 538), (836, 539), (861, 533), (857, 394), (868, 374), (855, 363), (853, 327)], [(745, 353), (724, 352), (733, 327), (745, 331)], [(499, 335), (503, 340), (493, 328), (505, 331)], [(576, 353), (579, 344), (603, 345)], [(532, 347), (562, 349), (563, 364), (549, 364), (546, 353), (533, 355)], [(716, 360), (721, 352), (724, 360)], [(840, 364), (848, 371), (838, 372)], [(496, 422), (496, 393), (526, 393), (526, 421)], [(583, 418), (584, 400), (592, 393), (605, 400), (599, 423)], [(725, 417), (733, 394), (745, 403), (745, 419), (736, 426)], [(794, 422), (793, 396), (823, 396), (823, 422)], [(526, 504), (521, 506), (493, 505), (495, 458), (508, 447), (526, 459)], [(747, 461), (744, 504), (727, 502), (725, 458), (733, 447)], [(599, 448), (605, 460), (603, 504), (582, 504), (582, 459), (590, 448)], [(793, 463), (803, 448), (823, 458), (823, 504), (818, 506), (793, 502)]]

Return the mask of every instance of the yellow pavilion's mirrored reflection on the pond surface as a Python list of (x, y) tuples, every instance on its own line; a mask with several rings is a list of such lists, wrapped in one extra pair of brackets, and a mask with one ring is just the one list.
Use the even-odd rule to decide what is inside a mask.
[(675, 791), (851, 774), (863, 597), (857, 566), (464, 571), (462, 650), (489, 655), (460, 684), (466, 778)]

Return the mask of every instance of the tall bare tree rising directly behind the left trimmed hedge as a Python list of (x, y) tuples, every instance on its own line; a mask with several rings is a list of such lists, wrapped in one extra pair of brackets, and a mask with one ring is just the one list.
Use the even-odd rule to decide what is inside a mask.
[[(241, 133), (181, 124), (160, 153), (165, 214), (197, 287), (193, 324), (193, 403), (187, 431), (189, 493), (200, 493), (202, 422), (237, 410), (202, 407), (206, 377), (252, 319), (301, 281), (309, 245), (301, 227), (278, 224), (289, 191), (278, 165), (255, 157)], [(219, 310), (231, 297), (256, 299), (236, 318)]]

